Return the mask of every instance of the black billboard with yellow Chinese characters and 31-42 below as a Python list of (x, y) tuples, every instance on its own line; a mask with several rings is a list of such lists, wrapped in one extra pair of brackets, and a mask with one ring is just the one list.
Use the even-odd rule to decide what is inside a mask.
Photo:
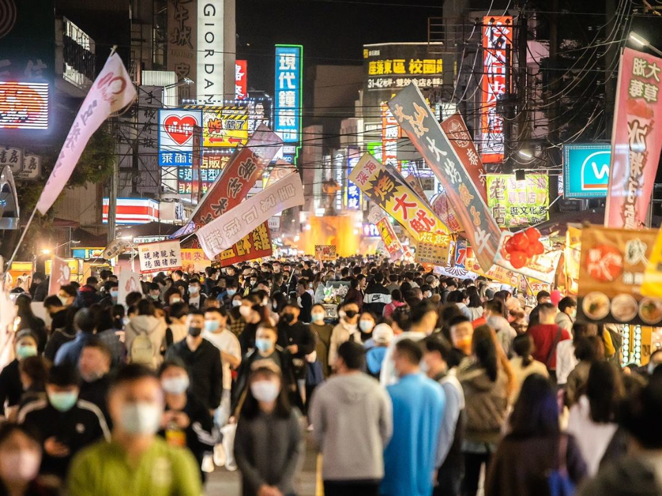
[(399, 90), (410, 84), (421, 88), (443, 85), (443, 60), (429, 52), (428, 43), (363, 45), (368, 90)]

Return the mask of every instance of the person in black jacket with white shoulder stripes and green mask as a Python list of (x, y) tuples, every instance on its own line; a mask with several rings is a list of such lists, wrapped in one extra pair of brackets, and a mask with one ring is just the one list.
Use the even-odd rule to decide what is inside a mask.
[(44, 452), (42, 475), (63, 480), (76, 453), (101, 438), (110, 439), (101, 410), (79, 399), (79, 382), (74, 366), (54, 365), (46, 381), (47, 398), (30, 402), (19, 411), (19, 424), (39, 432)]

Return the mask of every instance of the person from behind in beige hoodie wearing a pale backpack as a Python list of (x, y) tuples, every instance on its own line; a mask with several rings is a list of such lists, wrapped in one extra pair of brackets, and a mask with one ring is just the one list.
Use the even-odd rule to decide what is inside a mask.
[(142, 364), (157, 370), (163, 362), (161, 349), (165, 349), (165, 320), (157, 318), (154, 303), (140, 300), (137, 315), (133, 316), (124, 329), (127, 361)]

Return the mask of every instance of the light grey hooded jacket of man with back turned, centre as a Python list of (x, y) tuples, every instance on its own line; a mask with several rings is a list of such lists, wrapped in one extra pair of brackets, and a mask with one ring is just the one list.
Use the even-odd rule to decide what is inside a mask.
[(337, 375), (318, 386), (308, 411), (323, 459), (324, 480), (381, 479), (393, 432), (391, 400), (364, 373)]

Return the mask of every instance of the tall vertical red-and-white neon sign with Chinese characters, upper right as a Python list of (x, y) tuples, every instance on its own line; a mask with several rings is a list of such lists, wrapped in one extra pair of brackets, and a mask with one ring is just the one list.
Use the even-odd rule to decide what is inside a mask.
[(508, 92), (506, 72), (512, 65), (512, 17), (483, 17), (483, 83), (481, 101), (481, 156), (483, 163), (503, 160), (503, 118), (496, 101)]

